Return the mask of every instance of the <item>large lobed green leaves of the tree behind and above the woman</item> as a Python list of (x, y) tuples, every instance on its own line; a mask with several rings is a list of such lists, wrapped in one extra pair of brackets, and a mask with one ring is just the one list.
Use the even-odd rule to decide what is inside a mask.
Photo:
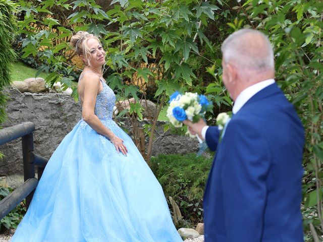
[[(143, 82), (155, 80), (154, 73), (157, 70), (163, 73), (155, 81), (155, 96), (163, 95), (164, 92), (169, 95), (181, 86), (185, 89), (192, 86), (196, 76), (190, 66), (183, 62), (188, 61), (193, 53), (199, 54), (199, 46), (195, 42), (197, 37), (200, 46), (203, 42), (209, 43), (200, 29), (199, 21), (203, 20), (206, 24), (207, 19), (214, 19), (214, 11), (219, 10), (218, 6), (208, 1), (197, 4), (193, 0), (113, 1), (110, 10), (106, 12), (102, 10), (103, 6), (94, 1), (74, 1), (71, 4), (66, 4), (65, 0), (40, 3), (19, 1), (19, 4), (25, 14), (20, 26), (20, 33), (25, 35), (23, 57), (33, 55), (53, 67), (73, 69), (65, 54), (70, 50), (66, 37), (73, 34), (70, 27), (73, 26), (75, 32), (86, 30), (100, 35), (109, 55), (106, 65), (110, 75), (107, 80), (115, 83), (116, 76), (121, 78), (118, 79), (118, 85), (114, 85), (120, 98), (137, 98), (134, 88), (126, 84), (135, 73), (143, 77)], [(74, 11), (61, 21), (57, 20), (59, 16), (53, 15), (48, 19), (40, 14), (51, 12), (54, 8), (60, 9), (60, 14), (69, 9)], [(30, 23), (43, 26), (43, 30), (35, 31)], [(118, 27), (111, 29), (110, 26)], [(142, 68), (142, 63), (148, 65)], [(47, 82), (64, 83), (62, 78), (62, 75), (56, 73)]]

